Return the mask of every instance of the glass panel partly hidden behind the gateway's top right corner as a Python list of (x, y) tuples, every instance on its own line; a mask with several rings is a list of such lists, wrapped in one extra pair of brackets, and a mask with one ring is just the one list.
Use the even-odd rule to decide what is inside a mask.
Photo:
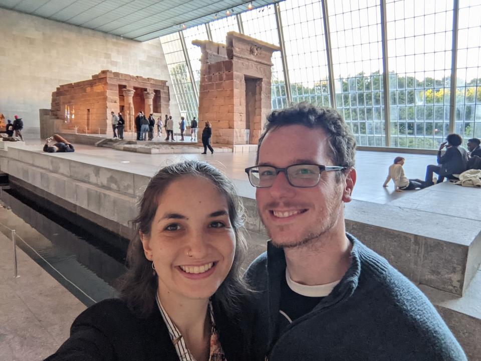
[[(276, 23), (275, 5), (254, 9), (240, 15), (244, 34), (262, 39), (265, 42), (279, 46), (279, 34)], [(284, 84), (284, 70), (281, 60), (281, 52), (275, 52), (272, 56), (272, 81), (271, 102), (273, 109), (287, 106), (286, 85)]]

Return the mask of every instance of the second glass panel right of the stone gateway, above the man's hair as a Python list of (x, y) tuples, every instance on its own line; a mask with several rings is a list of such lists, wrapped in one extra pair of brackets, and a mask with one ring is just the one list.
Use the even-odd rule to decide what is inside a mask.
[(322, 6), (316, 0), (279, 3), (292, 102), (330, 106)]

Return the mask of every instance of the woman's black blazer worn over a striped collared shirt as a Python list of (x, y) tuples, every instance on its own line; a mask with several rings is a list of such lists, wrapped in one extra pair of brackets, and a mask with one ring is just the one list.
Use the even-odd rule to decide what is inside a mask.
[[(244, 332), (213, 302), (214, 319), (227, 361), (250, 357)], [(233, 317), (236, 318), (236, 317)], [(82, 312), (70, 337), (46, 361), (178, 361), (167, 327), (155, 305), (147, 318), (120, 299), (101, 301)]]

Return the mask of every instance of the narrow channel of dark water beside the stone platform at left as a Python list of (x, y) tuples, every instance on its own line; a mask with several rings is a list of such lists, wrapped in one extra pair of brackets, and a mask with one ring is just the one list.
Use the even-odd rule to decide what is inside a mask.
[[(84, 304), (117, 295), (115, 285), (125, 272), (128, 240), (23, 188), (2, 190), (0, 201), (10, 208), (0, 212), (0, 223), (15, 229), (76, 287), (24, 242), (17, 240), (17, 245)], [(5, 227), (0, 226), (0, 231), (11, 237)]]

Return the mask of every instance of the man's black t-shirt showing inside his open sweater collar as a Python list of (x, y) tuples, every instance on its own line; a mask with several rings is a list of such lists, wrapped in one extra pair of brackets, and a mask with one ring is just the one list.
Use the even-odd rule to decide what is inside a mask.
[[(299, 317), (311, 312), (324, 297), (303, 296), (294, 292), (287, 284), (286, 277), (281, 279), (281, 304), (277, 333), (280, 335), (289, 324)], [(287, 316), (287, 317), (286, 317)], [(289, 317), (289, 319), (288, 319)]]

